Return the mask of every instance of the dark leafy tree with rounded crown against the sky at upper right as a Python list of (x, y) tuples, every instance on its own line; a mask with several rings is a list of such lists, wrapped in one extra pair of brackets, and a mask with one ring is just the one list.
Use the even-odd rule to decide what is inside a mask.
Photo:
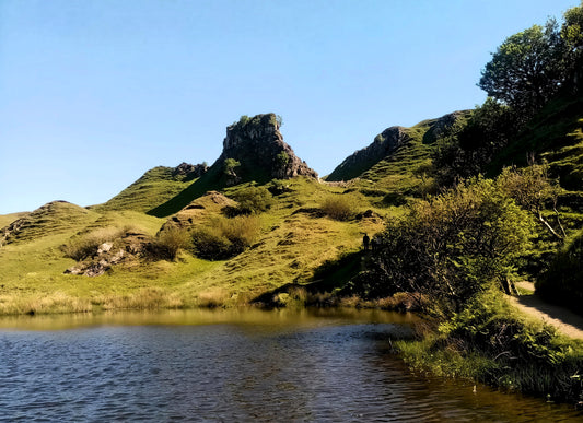
[(528, 119), (561, 86), (564, 45), (557, 21), (506, 38), (481, 72), (478, 86)]

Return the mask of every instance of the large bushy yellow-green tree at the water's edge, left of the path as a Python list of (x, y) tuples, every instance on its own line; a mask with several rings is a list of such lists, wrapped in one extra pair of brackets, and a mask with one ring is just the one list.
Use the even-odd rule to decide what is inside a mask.
[(491, 283), (509, 291), (530, 235), (526, 211), (494, 181), (474, 178), (389, 222), (365, 275), (385, 294), (421, 293), (432, 305), (428, 313), (447, 317)]

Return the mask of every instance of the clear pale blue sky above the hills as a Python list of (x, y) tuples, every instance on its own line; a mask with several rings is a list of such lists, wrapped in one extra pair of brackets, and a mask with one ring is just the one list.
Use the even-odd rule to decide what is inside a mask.
[(0, 214), (212, 164), (276, 113), (322, 176), (385, 128), (481, 104), (508, 36), (579, 0), (0, 0)]

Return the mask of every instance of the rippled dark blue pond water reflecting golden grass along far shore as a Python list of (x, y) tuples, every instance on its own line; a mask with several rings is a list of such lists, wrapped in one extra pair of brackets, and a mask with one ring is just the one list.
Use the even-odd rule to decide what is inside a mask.
[(583, 421), (413, 375), (412, 316), (189, 310), (0, 319), (0, 421)]

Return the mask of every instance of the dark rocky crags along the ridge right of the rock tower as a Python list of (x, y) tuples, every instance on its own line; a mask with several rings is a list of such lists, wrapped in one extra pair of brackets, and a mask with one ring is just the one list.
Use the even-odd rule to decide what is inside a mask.
[[(467, 115), (467, 111), (455, 111), (439, 119), (421, 122), (418, 126), (428, 125), (429, 128), (422, 137), (424, 144), (434, 142), (447, 128), (451, 128), (457, 119)], [(345, 158), (326, 178), (329, 181), (349, 180), (360, 176), (383, 158), (395, 153), (399, 148), (407, 145), (412, 140), (411, 128), (390, 127), (374, 138), (366, 148), (354, 152)]]

